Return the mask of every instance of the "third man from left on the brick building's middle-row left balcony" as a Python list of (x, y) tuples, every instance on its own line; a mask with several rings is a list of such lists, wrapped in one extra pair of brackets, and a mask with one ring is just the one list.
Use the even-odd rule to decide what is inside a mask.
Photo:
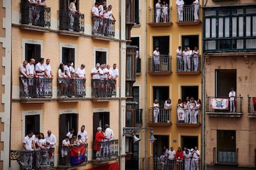
[(36, 84), (39, 81), (39, 87), (36, 87), (36, 95), (40, 97), (40, 95), (44, 95), (43, 87), (45, 86), (44, 78), (45, 78), (45, 67), (43, 66), (43, 62), (45, 62), (44, 58), (41, 58), (39, 62), (36, 64)]

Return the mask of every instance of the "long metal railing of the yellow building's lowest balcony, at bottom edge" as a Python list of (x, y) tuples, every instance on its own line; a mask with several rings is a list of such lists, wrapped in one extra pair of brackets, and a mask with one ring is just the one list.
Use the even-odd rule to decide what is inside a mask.
[(153, 170), (183, 170), (183, 169), (201, 169), (200, 159), (187, 158), (187, 159), (174, 159), (168, 158), (147, 158), (148, 169)]

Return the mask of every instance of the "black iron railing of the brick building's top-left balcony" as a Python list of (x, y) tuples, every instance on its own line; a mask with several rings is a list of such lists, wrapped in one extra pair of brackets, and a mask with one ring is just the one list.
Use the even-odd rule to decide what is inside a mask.
[(20, 4), (20, 22), (27, 25), (51, 26), (51, 8), (30, 4), (22, 1)]

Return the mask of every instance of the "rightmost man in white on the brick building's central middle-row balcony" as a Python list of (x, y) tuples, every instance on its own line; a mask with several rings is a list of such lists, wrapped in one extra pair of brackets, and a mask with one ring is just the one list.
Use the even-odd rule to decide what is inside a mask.
[(80, 68), (75, 71), (75, 83), (77, 85), (77, 95), (83, 97), (85, 84), (85, 65), (82, 64)]

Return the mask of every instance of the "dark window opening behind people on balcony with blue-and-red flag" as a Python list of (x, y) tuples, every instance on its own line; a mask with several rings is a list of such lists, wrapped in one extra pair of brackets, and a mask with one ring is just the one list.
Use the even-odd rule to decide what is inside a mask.
[(59, 115), (59, 142), (61, 144), (62, 140), (65, 139), (67, 132), (70, 128), (74, 128), (74, 135), (77, 135), (77, 120), (78, 114), (76, 113), (67, 113)]

